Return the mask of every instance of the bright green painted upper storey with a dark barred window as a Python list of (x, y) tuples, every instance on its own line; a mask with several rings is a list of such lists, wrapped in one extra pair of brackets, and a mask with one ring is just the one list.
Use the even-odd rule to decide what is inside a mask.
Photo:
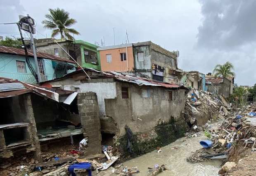
[(100, 53), (97, 51), (97, 45), (93, 45), (83, 40), (76, 40), (75, 45), (76, 47), (80, 47), (81, 54), (79, 54), (79, 49), (76, 49), (76, 56), (78, 63), (83, 68), (94, 68), (101, 70)]

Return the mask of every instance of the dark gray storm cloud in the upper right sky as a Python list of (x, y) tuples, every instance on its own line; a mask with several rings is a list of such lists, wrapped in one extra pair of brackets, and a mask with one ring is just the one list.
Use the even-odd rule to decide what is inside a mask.
[(256, 40), (255, 0), (200, 0), (199, 47), (236, 49)]

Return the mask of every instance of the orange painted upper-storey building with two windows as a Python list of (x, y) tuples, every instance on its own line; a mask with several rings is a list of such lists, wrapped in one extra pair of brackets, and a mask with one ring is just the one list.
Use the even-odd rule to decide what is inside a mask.
[(134, 68), (133, 45), (131, 43), (99, 47), (102, 71), (132, 71)]

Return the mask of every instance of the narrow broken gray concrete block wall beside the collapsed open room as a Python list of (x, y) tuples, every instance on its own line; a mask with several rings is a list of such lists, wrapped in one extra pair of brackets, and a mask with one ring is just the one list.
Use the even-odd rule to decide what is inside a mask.
[(77, 101), (84, 136), (89, 139), (85, 155), (101, 153), (100, 117), (97, 95), (94, 92), (78, 93)]

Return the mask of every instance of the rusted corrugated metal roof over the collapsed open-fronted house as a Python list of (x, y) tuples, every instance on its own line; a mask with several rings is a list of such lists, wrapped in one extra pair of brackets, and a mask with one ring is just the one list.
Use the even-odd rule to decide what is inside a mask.
[[(19, 80), (9, 79), (5, 77), (0, 77), (0, 87), (9, 87), (7, 84), (13, 85), (14, 83), (19, 84), (19, 89), (12, 90), (12, 89), (5, 89), (0, 92), (0, 98), (11, 97), (11, 96), (18, 96), (21, 94), (26, 93), (34, 93), (40, 96), (45, 96), (50, 98), (54, 101), (59, 102), (59, 96), (65, 96), (68, 94), (73, 93), (73, 91), (66, 91), (61, 89), (49, 89), (48, 87), (38, 86), (33, 84), (28, 84), (26, 82), (21, 82)], [(22, 86), (21, 86), (22, 85)]]

